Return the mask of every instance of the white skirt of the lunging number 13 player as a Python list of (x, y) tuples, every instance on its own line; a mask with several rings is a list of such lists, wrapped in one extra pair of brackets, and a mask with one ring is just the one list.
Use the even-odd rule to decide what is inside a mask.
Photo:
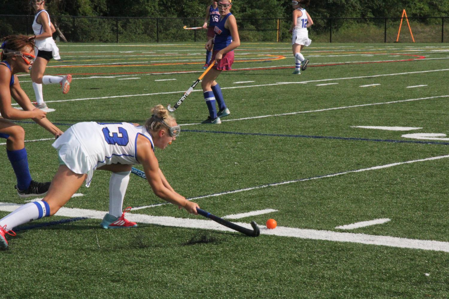
[(87, 173), (86, 187), (90, 186), (94, 170), (97, 168), (97, 155), (89, 155), (76, 138), (71, 127), (52, 144), (66, 166), (74, 173)]

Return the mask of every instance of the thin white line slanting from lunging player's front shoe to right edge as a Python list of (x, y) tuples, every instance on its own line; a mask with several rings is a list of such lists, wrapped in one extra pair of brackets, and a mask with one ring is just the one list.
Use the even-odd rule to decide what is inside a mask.
[[(249, 187), (249, 188), (238, 189), (238, 190), (234, 190), (234, 191), (226, 191), (226, 192), (215, 193), (215, 194), (210, 194), (210, 195), (203, 195), (203, 196), (198, 196), (198, 197), (192, 197), (192, 198), (189, 198), (187, 200), (203, 199), (203, 198), (207, 198), (207, 197), (215, 197), (215, 196), (221, 196), (221, 195), (226, 195), (226, 194), (233, 194), (233, 193), (238, 193), (238, 192), (251, 191), (251, 190), (260, 189), (260, 188), (281, 186), (281, 185), (297, 183), (297, 182), (311, 181), (311, 180), (316, 180), (316, 179), (320, 179), (320, 178), (332, 178), (332, 177), (336, 177), (336, 176), (343, 175), (343, 174), (348, 174), (348, 173), (357, 173), (357, 172), (364, 172), (364, 171), (370, 171), (370, 170), (384, 169), (384, 168), (390, 168), (390, 167), (393, 167), (393, 166), (398, 166), (398, 165), (403, 165), (403, 164), (411, 164), (411, 163), (424, 162), (424, 161), (430, 161), (430, 160), (439, 160), (439, 159), (444, 159), (444, 158), (449, 158), (449, 155), (435, 156), (435, 157), (424, 158), (424, 159), (419, 159), (419, 160), (409, 160), (409, 161), (405, 161), (405, 162), (397, 162), (397, 163), (392, 163), (392, 164), (373, 166), (373, 167), (369, 167), (369, 168), (349, 170), (349, 171), (344, 171), (344, 172), (340, 172), (340, 173), (333, 173), (333, 174), (317, 176), (317, 177), (313, 177), (313, 178), (302, 178), (302, 179), (299, 179), (299, 180), (279, 182), (279, 183), (272, 183), (272, 184), (268, 184), (268, 185)], [(166, 204), (168, 204), (168, 203), (151, 204), (151, 205), (148, 205), (148, 206), (136, 207), (136, 208), (132, 208), (132, 209), (133, 210), (140, 210), (140, 209), (144, 209), (144, 208), (154, 208), (154, 207), (158, 207), (158, 206), (162, 206), (162, 205), (166, 205)]]

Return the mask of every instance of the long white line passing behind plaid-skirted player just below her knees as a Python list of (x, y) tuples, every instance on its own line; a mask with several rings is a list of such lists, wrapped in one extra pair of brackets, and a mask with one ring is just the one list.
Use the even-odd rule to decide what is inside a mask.
[[(326, 82), (326, 81), (333, 81), (333, 80), (349, 80), (349, 79), (359, 79), (359, 78), (374, 78), (374, 77), (383, 77), (383, 76), (397, 76), (397, 75), (404, 75), (404, 74), (421, 74), (421, 73), (441, 72), (441, 71), (449, 71), (449, 69), (435, 69), (435, 70), (418, 71), (418, 72), (407, 72), (407, 73), (396, 73), (396, 74), (383, 74), (383, 75), (371, 75), (371, 76), (332, 78), (332, 79), (310, 80), (310, 81), (303, 81), (303, 82), (279, 82), (279, 83), (259, 84), (259, 85), (249, 85), (249, 86), (233, 86), (233, 87), (222, 87), (221, 89), (265, 87), (265, 86), (276, 86), (276, 85), (285, 85), (285, 84), (301, 84), (301, 83), (310, 83), (310, 82)], [(202, 90), (198, 90), (198, 89), (194, 90), (193, 92), (197, 92), (197, 91), (201, 91), (202, 92)], [(175, 94), (175, 93), (176, 94), (184, 94), (185, 91), (155, 92), (155, 93), (135, 94), (135, 95), (112, 95), (112, 96), (102, 96), (102, 97), (95, 97), (95, 98), (71, 99), (71, 100), (54, 100), (54, 101), (46, 101), (46, 103), (70, 102), (70, 101), (85, 101), (85, 100), (102, 100), (102, 99), (115, 99), (115, 98), (129, 98), (129, 97), (133, 97), (133, 96), (168, 95), (168, 94)], [(15, 103), (13, 105), (18, 105), (18, 104)]]

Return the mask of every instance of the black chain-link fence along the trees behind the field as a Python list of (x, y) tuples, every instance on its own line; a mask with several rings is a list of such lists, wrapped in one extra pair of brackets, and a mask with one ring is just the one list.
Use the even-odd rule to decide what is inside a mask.
[[(32, 35), (34, 16), (0, 15), (0, 36)], [(202, 26), (202, 18), (166, 17), (72, 17), (51, 16), (55, 39), (84, 43), (160, 43), (206, 41), (206, 30), (184, 30)], [(449, 17), (409, 17), (417, 43), (449, 42)], [(396, 42), (401, 18), (316, 18), (309, 28), (314, 42), (392, 43)], [(288, 42), (291, 19), (237, 19), (241, 41)], [(406, 19), (399, 42), (412, 42)]]

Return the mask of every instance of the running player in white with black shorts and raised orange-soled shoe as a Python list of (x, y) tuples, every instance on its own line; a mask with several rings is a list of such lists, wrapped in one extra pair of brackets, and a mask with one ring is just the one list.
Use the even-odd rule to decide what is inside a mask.
[(31, 3), (36, 11), (32, 25), (35, 34), (36, 59), (31, 68), (31, 80), (33, 81), (33, 89), (36, 95), (36, 107), (49, 112), (50, 110), (48, 109), (47, 104), (45, 104), (44, 96), (42, 95), (42, 83), (45, 85), (60, 84), (62, 93), (66, 94), (70, 90), (72, 76), (70, 74), (63, 77), (44, 76), (48, 61), (52, 58), (59, 60), (61, 57), (59, 56), (59, 49), (52, 37), (56, 30), (53, 23), (50, 21), (50, 15), (45, 10), (45, 1), (31, 0)]

